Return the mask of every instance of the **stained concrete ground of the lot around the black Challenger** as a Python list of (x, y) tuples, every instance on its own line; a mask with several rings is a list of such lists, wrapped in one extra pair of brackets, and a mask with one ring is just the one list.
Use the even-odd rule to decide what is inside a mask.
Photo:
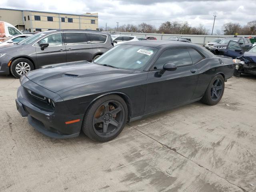
[(19, 80), (0, 76), (1, 192), (254, 192), (256, 77), (231, 78), (221, 102), (128, 124), (107, 143), (58, 140), (16, 110)]

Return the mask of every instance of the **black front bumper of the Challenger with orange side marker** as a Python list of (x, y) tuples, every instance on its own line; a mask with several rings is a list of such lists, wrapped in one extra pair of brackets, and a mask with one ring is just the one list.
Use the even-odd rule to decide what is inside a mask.
[[(40, 87), (31, 81), (28, 81), (25, 84), (28, 84), (27, 86), (30, 85), (30, 90), (32, 84), (34, 84), (34, 88), (37, 90)], [(40, 89), (44, 92), (48, 92), (48, 94), (50, 92), (42, 87), (40, 87)], [(52, 94), (56, 95), (53, 92)], [(26, 88), (23, 86), (18, 88), (17, 97), (17, 110), (23, 117), (28, 116), (29, 124), (39, 132), (52, 138), (72, 138), (80, 134), (83, 116), (73, 116), (70, 114), (64, 102), (56, 102), (56, 108), (52, 111), (44, 109), (40, 107), (41, 101), (38, 101), (37, 103), (34, 98), (31, 100), (29, 99), (26, 94)], [(65, 124), (65, 122), (76, 119), (80, 119), (80, 121), (72, 124)]]

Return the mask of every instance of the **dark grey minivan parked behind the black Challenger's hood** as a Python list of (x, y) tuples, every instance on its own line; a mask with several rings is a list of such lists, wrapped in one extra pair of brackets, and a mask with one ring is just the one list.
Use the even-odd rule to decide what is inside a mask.
[(0, 48), (0, 74), (20, 78), (47, 65), (92, 61), (114, 46), (108, 33), (92, 30), (51, 30)]

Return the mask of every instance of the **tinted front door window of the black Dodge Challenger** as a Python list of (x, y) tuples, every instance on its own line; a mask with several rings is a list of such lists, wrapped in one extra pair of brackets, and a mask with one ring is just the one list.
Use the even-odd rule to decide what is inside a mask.
[(188, 49), (171, 49), (166, 50), (162, 55), (156, 60), (153, 68), (161, 70), (166, 63), (173, 63), (176, 66), (186, 66), (192, 65), (192, 60)]

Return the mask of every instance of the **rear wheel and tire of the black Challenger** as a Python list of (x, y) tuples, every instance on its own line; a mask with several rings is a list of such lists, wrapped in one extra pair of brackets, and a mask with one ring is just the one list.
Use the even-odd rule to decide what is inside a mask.
[[(222, 84), (221, 90), (220, 89), (217, 90), (216, 88), (213, 88), (215, 84), (218, 82), (218, 80)], [(216, 86), (216, 87), (220, 88), (220, 86)], [(201, 101), (207, 105), (216, 105), (221, 100), (224, 93), (224, 89), (225, 89), (224, 78), (222, 75), (218, 74), (211, 80)]]

